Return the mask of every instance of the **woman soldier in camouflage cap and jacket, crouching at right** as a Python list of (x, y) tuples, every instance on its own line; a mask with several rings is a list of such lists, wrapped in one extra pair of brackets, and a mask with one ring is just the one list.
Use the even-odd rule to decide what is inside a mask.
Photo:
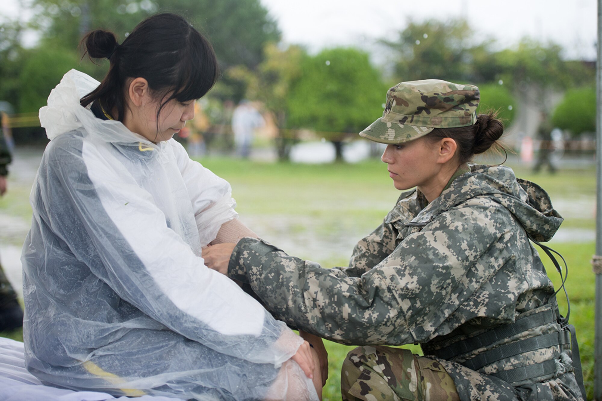
[[(476, 116), (473, 85), (429, 79), (389, 89), (360, 135), (403, 192), (349, 263), (322, 269), (264, 241), (203, 251), (284, 322), (353, 350), (345, 400), (581, 400), (568, 319), (530, 238), (562, 218), (550, 198), (504, 166), (467, 164), (498, 145), (503, 125)], [(420, 343), (424, 356), (383, 346)], [(576, 346), (576, 343), (573, 343)], [(571, 358), (575, 358), (572, 360)]]

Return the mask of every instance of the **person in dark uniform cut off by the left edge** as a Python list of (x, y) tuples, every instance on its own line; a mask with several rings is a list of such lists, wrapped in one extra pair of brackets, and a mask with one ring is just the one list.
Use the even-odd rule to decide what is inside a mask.
[[(5, 114), (2, 113), (2, 129), (0, 129), (0, 196), (7, 191), (8, 164), (12, 161), (11, 152), (4, 137)], [(8, 282), (0, 264), (0, 331), (8, 331), (23, 326), (23, 311), (17, 294)]]

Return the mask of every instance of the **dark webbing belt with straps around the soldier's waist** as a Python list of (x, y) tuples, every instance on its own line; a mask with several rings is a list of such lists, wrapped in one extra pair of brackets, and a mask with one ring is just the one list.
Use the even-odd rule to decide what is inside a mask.
[[(560, 273), (560, 278), (562, 278), (562, 285), (560, 285), (560, 288), (563, 288), (566, 294), (566, 289), (564, 288), (566, 275), (562, 275), (562, 269), (560, 269), (556, 258), (554, 258), (551, 252), (559, 255), (560, 258), (562, 258), (562, 255), (557, 253), (555, 250), (538, 243), (537, 241), (533, 240), (533, 238), (531, 238), (531, 240), (538, 244), (544, 250), (544, 252), (550, 256), (554, 266), (556, 266), (556, 269)], [(562, 258), (562, 260), (564, 261), (564, 258)], [(585, 400), (586, 393), (583, 385), (581, 359), (579, 355), (579, 346), (577, 344), (577, 338), (575, 335), (575, 328), (573, 325), (568, 324), (568, 318), (571, 313), (571, 306), (568, 302), (568, 294), (566, 294), (566, 303), (568, 305), (566, 317), (560, 316), (557, 303), (551, 302), (552, 300), (555, 301), (556, 294), (558, 291), (560, 291), (560, 288), (558, 288), (556, 293), (554, 293), (554, 295), (548, 299), (548, 302), (545, 305), (519, 315), (514, 323), (497, 326), (491, 330), (481, 332), (474, 337), (465, 338), (465, 336), (459, 335), (457, 340), (455, 340), (455, 338), (448, 338), (445, 341), (437, 341), (435, 339), (429, 343), (421, 344), (424, 355), (434, 355), (437, 358), (445, 359), (447, 361), (454, 361), (454, 359), (456, 359), (458, 356), (461, 356), (461, 358), (458, 358), (458, 361), (456, 362), (464, 365), (467, 368), (470, 368), (471, 370), (478, 371), (483, 367), (491, 365), (494, 362), (501, 361), (502, 359), (510, 357), (520, 358), (521, 354), (526, 352), (551, 349), (553, 351), (553, 357), (547, 361), (536, 362), (532, 365), (497, 371), (490, 374), (490, 376), (495, 376), (511, 385), (517, 386), (527, 382), (536, 383), (553, 377), (557, 371), (556, 360), (559, 359), (560, 353), (563, 350), (570, 349), (575, 378), (579, 384), (583, 399)], [(500, 344), (494, 348), (487, 349), (488, 347), (493, 346), (495, 343), (503, 342), (503, 340), (507, 338), (516, 338), (521, 333), (529, 331), (530, 329), (535, 329), (544, 325), (550, 326), (550, 323), (557, 323), (559, 328), (553, 330), (552, 332), (549, 332), (550, 328), (548, 328), (547, 334), (535, 335), (533, 337), (523, 338), (511, 343)], [(486, 350), (477, 353), (476, 355), (470, 355), (470, 353), (482, 348), (485, 348)], [(463, 360), (463, 358), (467, 359)], [(481, 373), (486, 374), (485, 372)]]

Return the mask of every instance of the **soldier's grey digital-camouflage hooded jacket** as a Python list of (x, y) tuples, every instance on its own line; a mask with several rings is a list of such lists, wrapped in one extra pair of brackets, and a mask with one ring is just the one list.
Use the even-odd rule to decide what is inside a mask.
[[(452, 178), (453, 179), (453, 178)], [(553, 284), (527, 233), (550, 240), (562, 217), (532, 182), (504, 166), (471, 166), (427, 204), (402, 193), (347, 268), (323, 269), (244, 238), (228, 275), (250, 286), (276, 319), (344, 344), (432, 343), (471, 337), (536, 309), (556, 309)], [(559, 331), (551, 323), (519, 338)], [(462, 400), (581, 399), (570, 351), (556, 346), (470, 370), (441, 360)], [(483, 351), (477, 350), (477, 352)], [(556, 372), (510, 385), (490, 373), (554, 359)]]

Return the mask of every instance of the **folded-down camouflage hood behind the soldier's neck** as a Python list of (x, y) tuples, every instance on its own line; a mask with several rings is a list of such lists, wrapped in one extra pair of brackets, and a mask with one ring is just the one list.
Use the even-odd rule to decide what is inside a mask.
[(412, 223), (429, 222), (441, 211), (485, 196), (509, 210), (534, 240), (549, 241), (553, 237), (563, 219), (539, 185), (517, 178), (506, 166), (473, 164), (470, 169), (418, 213)]

